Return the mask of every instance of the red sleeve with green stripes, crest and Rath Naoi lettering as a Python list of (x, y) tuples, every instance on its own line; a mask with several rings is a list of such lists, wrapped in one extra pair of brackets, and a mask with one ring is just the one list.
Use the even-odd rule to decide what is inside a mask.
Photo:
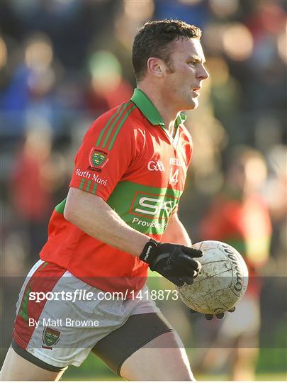
[(75, 157), (69, 184), (69, 187), (101, 196), (104, 201), (135, 158), (135, 137), (128, 124), (123, 124), (118, 132), (115, 128), (105, 142), (108, 128), (104, 128), (110, 116), (101, 116), (87, 131)]

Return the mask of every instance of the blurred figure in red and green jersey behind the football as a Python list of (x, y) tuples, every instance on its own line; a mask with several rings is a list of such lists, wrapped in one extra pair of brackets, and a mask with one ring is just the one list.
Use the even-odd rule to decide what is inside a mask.
[[(254, 380), (259, 348), (260, 268), (269, 257), (271, 220), (261, 188), (266, 181), (264, 158), (257, 150), (237, 147), (232, 153), (223, 191), (215, 196), (201, 223), (203, 240), (220, 240), (235, 247), (249, 269), (249, 285), (232, 318), (218, 322), (203, 368), (226, 362), (231, 380)], [(214, 331), (214, 328), (213, 328)], [(223, 348), (218, 353), (217, 348)], [(230, 349), (228, 349), (230, 348)], [(223, 357), (225, 355), (225, 357)]]

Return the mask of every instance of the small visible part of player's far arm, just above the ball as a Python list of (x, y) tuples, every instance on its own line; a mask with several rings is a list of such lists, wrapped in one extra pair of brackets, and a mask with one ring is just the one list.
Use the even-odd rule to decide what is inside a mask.
[(191, 246), (191, 238), (184, 228), (184, 225), (179, 221), (177, 213), (172, 214), (169, 218), (167, 229), (162, 235), (162, 242), (178, 243), (179, 245)]

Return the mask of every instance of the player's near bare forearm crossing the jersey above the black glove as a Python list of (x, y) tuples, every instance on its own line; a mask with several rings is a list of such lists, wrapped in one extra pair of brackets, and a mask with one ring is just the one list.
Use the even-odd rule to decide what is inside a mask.
[(64, 218), (103, 243), (138, 257), (150, 237), (130, 228), (99, 196), (71, 187)]

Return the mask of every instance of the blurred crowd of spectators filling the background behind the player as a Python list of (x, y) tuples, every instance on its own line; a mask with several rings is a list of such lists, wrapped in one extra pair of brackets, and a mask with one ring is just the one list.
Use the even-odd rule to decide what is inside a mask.
[[(179, 18), (203, 30), (210, 72), (200, 106), (187, 112), (194, 154), (179, 216), (193, 243), (223, 240), (244, 255), (253, 279), (243, 311), (254, 312), (253, 332), (234, 334), (227, 321), (208, 323), (208, 331), (182, 311), (181, 335), (198, 372), (212, 379), (286, 370), (286, 11), (284, 0), (1, 0), (1, 274), (24, 277), (38, 260), (84, 132), (133, 94), (137, 28)], [(9, 346), (19, 288), (6, 284), (1, 348)], [(205, 345), (188, 335), (194, 328), (211, 328)], [(225, 357), (215, 362), (218, 353), (198, 351), (210, 345)], [(79, 379), (108, 374), (87, 363)]]

